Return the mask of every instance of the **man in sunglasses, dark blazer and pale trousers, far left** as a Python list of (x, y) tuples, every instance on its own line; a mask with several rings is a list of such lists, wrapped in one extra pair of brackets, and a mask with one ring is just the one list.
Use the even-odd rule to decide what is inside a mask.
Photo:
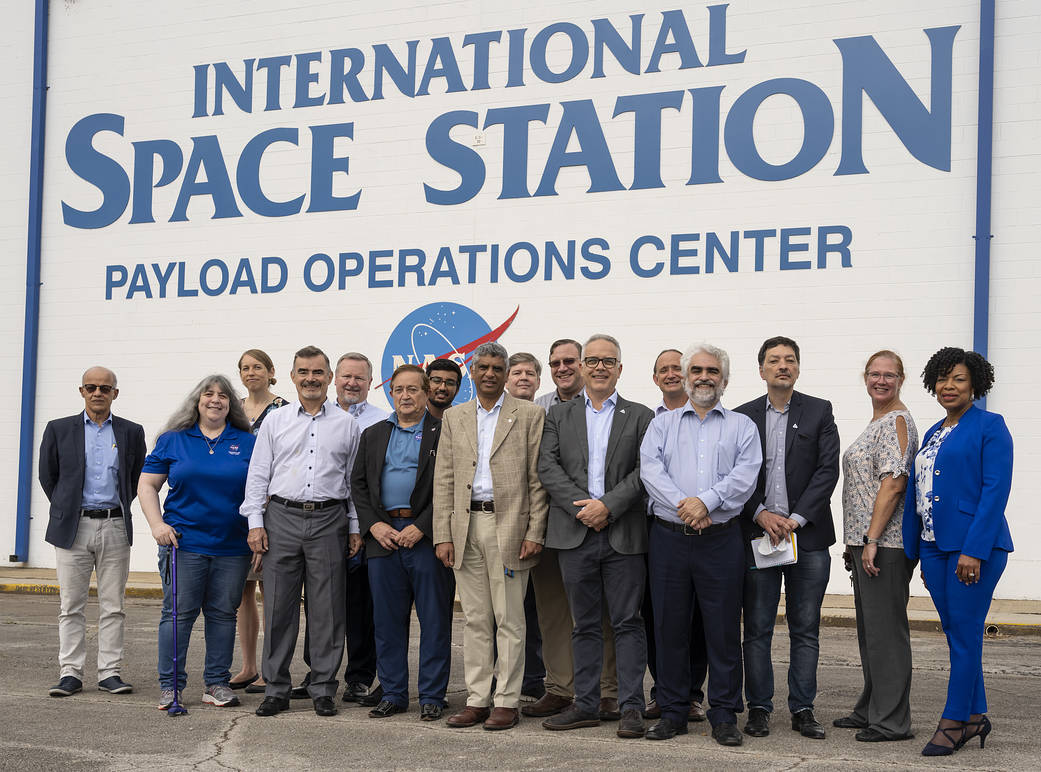
[(55, 548), (61, 599), (61, 677), (50, 689), (52, 697), (68, 697), (83, 688), (83, 610), (92, 571), (98, 574), (98, 688), (112, 694), (133, 691), (120, 678), (123, 592), (133, 541), (130, 503), (145, 463), (145, 430), (112, 415), (120, 390), (111, 370), (88, 369), (79, 393), (83, 412), (50, 421), (40, 446), (40, 484), (51, 503), (46, 538)]

